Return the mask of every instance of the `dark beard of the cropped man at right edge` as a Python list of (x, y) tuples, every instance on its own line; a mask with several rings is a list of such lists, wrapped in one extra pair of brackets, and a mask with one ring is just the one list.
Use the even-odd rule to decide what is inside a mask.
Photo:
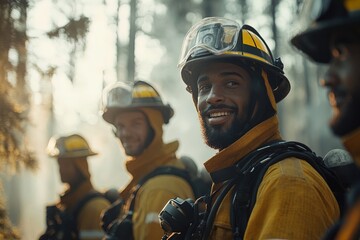
[(330, 121), (330, 128), (337, 136), (344, 136), (360, 127), (360, 96), (353, 96), (344, 105), (337, 118)]

